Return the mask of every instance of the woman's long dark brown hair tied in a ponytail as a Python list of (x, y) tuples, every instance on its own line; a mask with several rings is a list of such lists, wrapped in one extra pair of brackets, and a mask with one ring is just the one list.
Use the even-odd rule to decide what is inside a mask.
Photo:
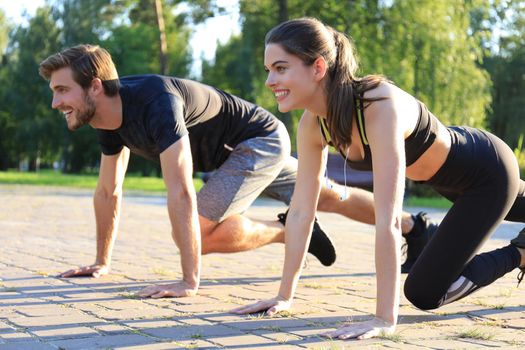
[(315, 18), (293, 19), (279, 24), (266, 34), (265, 45), (279, 44), (289, 54), (312, 65), (319, 57), (327, 63), (326, 121), (334, 147), (351, 143), (355, 101), (364, 101), (363, 93), (376, 88), (386, 79), (379, 75), (358, 78), (357, 58), (348, 37)]

